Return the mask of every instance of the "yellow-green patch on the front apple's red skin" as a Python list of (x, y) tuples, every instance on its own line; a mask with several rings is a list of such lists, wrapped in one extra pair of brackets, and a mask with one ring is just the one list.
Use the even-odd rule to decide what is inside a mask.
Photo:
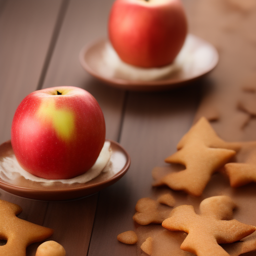
[(70, 140), (73, 137), (74, 114), (70, 110), (56, 108), (55, 101), (42, 101), (37, 116), (52, 123), (57, 136), (61, 139)]

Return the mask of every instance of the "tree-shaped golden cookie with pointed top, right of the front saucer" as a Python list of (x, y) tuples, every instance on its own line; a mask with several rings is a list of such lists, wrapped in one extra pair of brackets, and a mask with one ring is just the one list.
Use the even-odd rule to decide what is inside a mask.
[(211, 175), (227, 163), (239, 148), (239, 143), (220, 139), (206, 118), (201, 117), (181, 138), (177, 144), (178, 151), (165, 159), (168, 163), (183, 164), (185, 169), (171, 172), (153, 185), (166, 184), (174, 190), (199, 196)]

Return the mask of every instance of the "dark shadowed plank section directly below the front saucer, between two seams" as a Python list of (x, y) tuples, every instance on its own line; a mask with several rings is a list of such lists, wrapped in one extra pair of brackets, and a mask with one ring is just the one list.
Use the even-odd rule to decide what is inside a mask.
[(73, 201), (49, 203), (44, 226), (55, 230), (50, 239), (68, 255), (86, 255), (93, 225), (97, 194)]

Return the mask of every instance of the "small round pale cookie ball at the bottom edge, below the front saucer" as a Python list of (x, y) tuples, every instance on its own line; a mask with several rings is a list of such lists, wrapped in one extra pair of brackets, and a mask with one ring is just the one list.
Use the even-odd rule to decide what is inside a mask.
[(55, 241), (46, 241), (38, 246), (35, 256), (65, 256), (65, 254), (65, 249), (61, 244)]

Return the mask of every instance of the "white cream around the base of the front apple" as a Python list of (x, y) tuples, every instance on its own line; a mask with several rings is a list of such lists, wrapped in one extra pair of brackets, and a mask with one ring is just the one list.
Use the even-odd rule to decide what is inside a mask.
[(45, 184), (45, 185), (50, 184), (52, 182), (61, 182), (64, 184), (85, 183), (95, 178), (101, 173), (101, 171), (104, 169), (104, 167), (108, 163), (110, 159), (110, 155), (111, 155), (110, 142), (105, 141), (96, 162), (85, 173), (70, 179), (45, 179), (45, 178), (37, 177), (25, 171), (24, 169), (22, 169), (18, 164), (15, 155), (13, 154), (13, 156), (11, 157), (5, 157), (1, 162), (0, 178), (6, 182), (9, 182), (10, 180), (14, 180), (16, 178), (19, 178), (20, 176), (23, 176), (25, 179), (29, 179), (31, 181), (36, 181), (36, 182), (42, 182), (42, 184)]

